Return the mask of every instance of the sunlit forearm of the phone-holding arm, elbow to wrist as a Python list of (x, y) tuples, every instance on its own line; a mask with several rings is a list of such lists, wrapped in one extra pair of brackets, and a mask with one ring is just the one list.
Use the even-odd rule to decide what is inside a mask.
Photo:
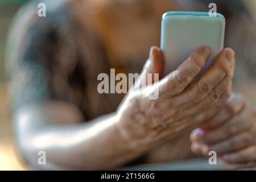
[[(42, 118), (42, 117), (41, 117)], [(34, 117), (28, 117), (31, 123)], [(119, 130), (115, 115), (79, 125), (45, 125), (34, 132), (19, 132), (24, 157), (40, 169), (109, 169), (122, 166), (146, 151), (131, 145)], [(136, 142), (135, 142), (136, 143)], [(46, 152), (46, 165), (38, 164), (38, 152)]]

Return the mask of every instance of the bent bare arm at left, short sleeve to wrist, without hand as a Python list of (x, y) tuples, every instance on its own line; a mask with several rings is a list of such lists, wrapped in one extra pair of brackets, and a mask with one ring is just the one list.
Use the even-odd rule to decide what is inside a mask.
[[(121, 166), (148, 148), (129, 146), (119, 132), (115, 113), (72, 124), (77, 119), (76, 107), (63, 103), (16, 111), (18, 143), (28, 163), (38, 169), (107, 169)], [(46, 165), (38, 164), (39, 151), (46, 152)]]

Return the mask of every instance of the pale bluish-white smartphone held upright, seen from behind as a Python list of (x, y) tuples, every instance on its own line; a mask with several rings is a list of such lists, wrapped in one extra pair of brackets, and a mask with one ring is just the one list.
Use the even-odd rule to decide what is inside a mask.
[(195, 49), (212, 49), (207, 69), (224, 48), (225, 18), (216, 13), (170, 11), (163, 14), (161, 49), (164, 54), (164, 76), (174, 71)]

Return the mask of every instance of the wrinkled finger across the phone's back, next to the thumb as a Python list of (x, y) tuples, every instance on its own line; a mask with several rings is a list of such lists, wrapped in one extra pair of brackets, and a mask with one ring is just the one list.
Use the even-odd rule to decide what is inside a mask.
[(196, 75), (200, 73), (201, 69), (204, 68), (209, 55), (210, 49), (208, 47), (197, 49), (176, 71), (171, 72), (159, 82), (159, 92), (168, 94), (169, 97), (183, 92)]

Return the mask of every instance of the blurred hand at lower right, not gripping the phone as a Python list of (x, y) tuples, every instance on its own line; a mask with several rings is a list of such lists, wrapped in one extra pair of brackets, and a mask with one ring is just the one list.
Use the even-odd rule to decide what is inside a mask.
[(216, 151), (225, 163), (254, 164), (256, 161), (256, 112), (241, 94), (232, 94), (224, 109), (191, 133), (191, 149), (208, 156)]

